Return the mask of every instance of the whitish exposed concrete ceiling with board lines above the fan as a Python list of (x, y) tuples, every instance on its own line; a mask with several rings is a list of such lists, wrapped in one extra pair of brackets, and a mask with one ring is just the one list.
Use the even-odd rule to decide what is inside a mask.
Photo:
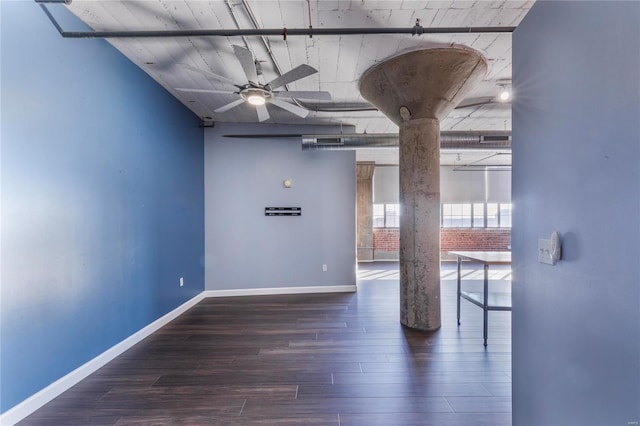
[[(373, 0), (74, 0), (68, 7), (96, 31), (202, 29), (513, 27), (533, 5), (521, 1), (373, 1)], [(51, 6), (54, 7), (54, 6)], [(241, 103), (224, 112), (219, 107), (237, 94), (196, 93), (176, 88), (233, 90), (215, 73), (239, 85), (247, 76), (233, 46), (249, 49), (259, 61), (260, 83), (267, 83), (301, 64), (318, 73), (279, 90), (326, 91), (330, 101), (302, 101), (312, 107), (300, 118), (267, 105), (267, 123), (344, 124), (357, 132), (396, 133), (397, 126), (372, 109), (358, 86), (373, 65), (398, 52), (432, 45), (460, 44), (482, 53), (486, 77), (441, 122), (442, 130), (511, 130), (511, 108), (497, 96), (511, 82), (510, 33), (151, 37), (108, 39), (126, 57), (165, 87), (196, 115), (216, 122), (258, 122), (254, 107)], [(193, 71), (199, 69), (204, 73)], [(237, 90), (237, 89), (236, 89)], [(303, 103), (304, 102), (304, 103)], [(465, 105), (468, 105), (464, 107)], [(315, 109), (363, 109), (322, 112)], [(364, 108), (362, 108), (364, 107)]]

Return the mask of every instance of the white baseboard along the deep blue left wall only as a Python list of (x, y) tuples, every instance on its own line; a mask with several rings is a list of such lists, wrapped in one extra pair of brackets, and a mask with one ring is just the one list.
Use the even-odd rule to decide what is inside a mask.
[(166, 315), (158, 318), (151, 324), (142, 328), (141, 330), (135, 332), (131, 336), (124, 339), (122, 342), (112, 346), (107, 349), (97, 357), (93, 358), (91, 361), (86, 364), (81, 365), (80, 367), (73, 370), (71, 373), (67, 374), (64, 377), (56, 380), (46, 388), (41, 391), (31, 395), (29, 398), (25, 399), (18, 405), (9, 410), (5, 411), (0, 415), (0, 425), (2, 426), (10, 426), (14, 425), (20, 420), (27, 417), (29, 414), (36, 411), (38, 408), (42, 407), (49, 401), (53, 400), (55, 397), (63, 393), (64, 391), (70, 389), (72, 386), (80, 382), (82, 379), (86, 378), (90, 374), (97, 371), (99, 368), (104, 366), (109, 361), (116, 358), (118, 355), (122, 354), (127, 349), (131, 348), (136, 343), (142, 341), (142, 339), (150, 336), (170, 321), (174, 320), (182, 313), (186, 312), (189, 308), (196, 305), (202, 299), (204, 299), (204, 293), (200, 293), (194, 298), (188, 300), (182, 305), (178, 306), (173, 311), (167, 313)]

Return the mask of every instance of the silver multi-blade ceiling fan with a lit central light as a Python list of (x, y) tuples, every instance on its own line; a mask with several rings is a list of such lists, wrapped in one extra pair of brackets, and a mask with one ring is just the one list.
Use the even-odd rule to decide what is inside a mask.
[(260, 64), (258, 61), (253, 59), (251, 51), (241, 46), (233, 46), (233, 51), (240, 61), (242, 69), (244, 70), (244, 73), (248, 80), (247, 83), (238, 84), (231, 79), (228, 79), (211, 71), (205, 71), (200, 68), (192, 67), (190, 65), (181, 64), (183, 67), (187, 68), (190, 71), (200, 73), (207, 77), (211, 77), (223, 83), (234, 86), (236, 90), (188, 89), (182, 87), (176, 87), (175, 90), (178, 90), (180, 92), (192, 93), (222, 93), (240, 95), (239, 99), (236, 99), (233, 102), (215, 109), (214, 112), (225, 112), (244, 102), (247, 102), (248, 104), (256, 107), (259, 121), (265, 121), (269, 119), (269, 112), (267, 111), (266, 104), (273, 104), (302, 118), (306, 117), (307, 114), (309, 114), (309, 111), (307, 109), (283, 101), (280, 98), (296, 98), (323, 101), (331, 100), (331, 94), (329, 92), (274, 90), (283, 87), (286, 84), (293, 83), (294, 81), (317, 73), (318, 70), (316, 70), (315, 68), (306, 64), (298, 65), (292, 70), (282, 74), (280, 77), (277, 77), (266, 84), (262, 84), (258, 81), (258, 75), (262, 74)]

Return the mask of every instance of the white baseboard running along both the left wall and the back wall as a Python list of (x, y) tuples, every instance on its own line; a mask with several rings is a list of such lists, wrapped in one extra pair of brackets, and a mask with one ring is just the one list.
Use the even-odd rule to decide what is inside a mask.
[(198, 294), (196, 297), (183, 303), (173, 311), (158, 318), (151, 324), (132, 334), (122, 342), (107, 349), (91, 361), (73, 370), (71, 373), (56, 380), (41, 391), (31, 395), (15, 407), (5, 411), (0, 415), (0, 425), (11, 426), (27, 417), (55, 397), (70, 389), (78, 382), (89, 376), (90, 374), (103, 367), (109, 361), (122, 354), (127, 349), (150, 336), (160, 328), (164, 327), (170, 321), (182, 315), (189, 308), (195, 306), (198, 302), (207, 297), (230, 297), (230, 296), (264, 296), (272, 294), (306, 294), (306, 293), (352, 293), (357, 290), (355, 285), (336, 285), (336, 286), (314, 286), (314, 287), (274, 287), (274, 288), (251, 288), (241, 290), (207, 290)]

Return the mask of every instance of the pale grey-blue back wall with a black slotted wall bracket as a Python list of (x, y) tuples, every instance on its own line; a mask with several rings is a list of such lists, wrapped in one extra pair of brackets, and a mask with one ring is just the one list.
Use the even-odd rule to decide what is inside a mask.
[[(207, 290), (355, 286), (355, 151), (302, 151), (299, 137), (224, 137), (339, 131), (265, 124), (207, 129)], [(291, 188), (284, 188), (285, 179)], [(302, 216), (267, 217), (268, 206), (302, 207)]]

